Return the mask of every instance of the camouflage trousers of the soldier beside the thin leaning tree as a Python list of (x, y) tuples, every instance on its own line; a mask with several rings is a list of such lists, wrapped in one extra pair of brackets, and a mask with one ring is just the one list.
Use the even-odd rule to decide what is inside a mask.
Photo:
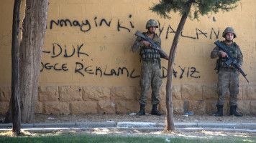
[(151, 104), (159, 104), (160, 103), (160, 87), (162, 84), (162, 77), (160, 74), (160, 68), (158, 61), (142, 61), (141, 66), (141, 79), (140, 79), (140, 87), (141, 94), (139, 103), (147, 104), (147, 92), (152, 89), (151, 93)]

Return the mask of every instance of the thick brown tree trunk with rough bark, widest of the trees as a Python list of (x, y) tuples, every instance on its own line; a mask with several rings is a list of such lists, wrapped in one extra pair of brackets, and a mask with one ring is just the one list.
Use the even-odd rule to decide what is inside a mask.
[(35, 118), (47, 8), (47, 0), (26, 1), (19, 54), (22, 122), (31, 122)]

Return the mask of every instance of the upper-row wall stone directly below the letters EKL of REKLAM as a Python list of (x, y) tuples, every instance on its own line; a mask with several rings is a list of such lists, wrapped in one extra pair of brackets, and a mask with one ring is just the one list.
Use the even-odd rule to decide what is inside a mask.
[(88, 86), (83, 87), (83, 100), (84, 101), (109, 101), (111, 87), (96, 87)]

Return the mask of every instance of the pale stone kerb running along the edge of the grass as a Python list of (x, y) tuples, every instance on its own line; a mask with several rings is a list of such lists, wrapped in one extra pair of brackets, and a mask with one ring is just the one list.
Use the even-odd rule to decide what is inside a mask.
[[(175, 129), (184, 132), (253, 132), (256, 133), (256, 123), (175, 123)], [(161, 131), (165, 123), (154, 122), (63, 122), (22, 124), (22, 130), (28, 132), (52, 132), (60, 130), (90, 130), (90, 129), (119, 129), (140, 131)], [(12, 124), (0, 124), (0, 132), (12, 130)]]

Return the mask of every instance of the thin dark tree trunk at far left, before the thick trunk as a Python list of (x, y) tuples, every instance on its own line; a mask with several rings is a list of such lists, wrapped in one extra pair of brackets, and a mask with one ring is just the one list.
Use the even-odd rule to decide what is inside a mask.
[(14, 1), (12, 21), (12, 134), (20, 134), (21, 111), (19, 97), (19, 9), (20, 0)]

